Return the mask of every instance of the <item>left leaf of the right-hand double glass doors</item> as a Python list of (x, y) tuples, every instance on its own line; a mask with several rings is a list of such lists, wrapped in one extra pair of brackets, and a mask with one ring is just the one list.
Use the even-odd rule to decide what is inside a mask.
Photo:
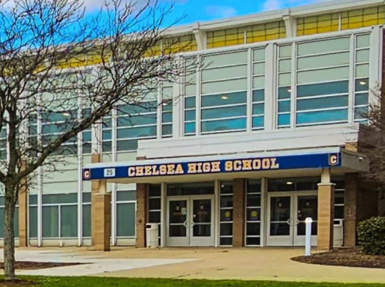
[(268, 218), (268, 245), (292, 246), (292, 197), (270, 196)]

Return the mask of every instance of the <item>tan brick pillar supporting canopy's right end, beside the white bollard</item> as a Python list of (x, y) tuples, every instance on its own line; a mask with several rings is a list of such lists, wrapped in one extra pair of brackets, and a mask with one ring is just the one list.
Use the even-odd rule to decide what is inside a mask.
[(333, 250), (334, 183), (318, 184), (318, 242), (317, 249)]

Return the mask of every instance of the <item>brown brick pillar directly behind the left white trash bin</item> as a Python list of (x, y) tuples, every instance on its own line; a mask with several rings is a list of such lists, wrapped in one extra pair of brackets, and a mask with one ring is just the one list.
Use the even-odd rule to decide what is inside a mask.
[(147, 184), (136, 184), (136, 243), (138, 248), (146, 247)]

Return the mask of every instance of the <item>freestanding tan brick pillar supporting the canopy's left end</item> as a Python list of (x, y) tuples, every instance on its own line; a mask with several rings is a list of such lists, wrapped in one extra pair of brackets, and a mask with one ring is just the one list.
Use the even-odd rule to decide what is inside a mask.
[[(100, 162), (100, 154), (92, 154), (91, 162)], [(94, 249), (109, 251), (110, 236), (111, 194), (107, 193), (105, 180), (93, 180), (91, 182), (91, 238)]]

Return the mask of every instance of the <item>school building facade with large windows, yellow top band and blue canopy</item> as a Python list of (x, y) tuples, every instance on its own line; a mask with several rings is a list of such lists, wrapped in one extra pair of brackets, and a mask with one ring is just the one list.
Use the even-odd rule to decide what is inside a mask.
[(312, 217), (313, 245), (355, 245), (380, 212), (354, 143), (383, 81), (384, 24), (384, 1), (336, 0), (171, 29), (183, 61), (207, 65), (134, 125), (119, 107), (84, 131), (60, 172), (40, 168), (16, 243), (145, 247), (157, 223), (161, 246), (301, 246)]

